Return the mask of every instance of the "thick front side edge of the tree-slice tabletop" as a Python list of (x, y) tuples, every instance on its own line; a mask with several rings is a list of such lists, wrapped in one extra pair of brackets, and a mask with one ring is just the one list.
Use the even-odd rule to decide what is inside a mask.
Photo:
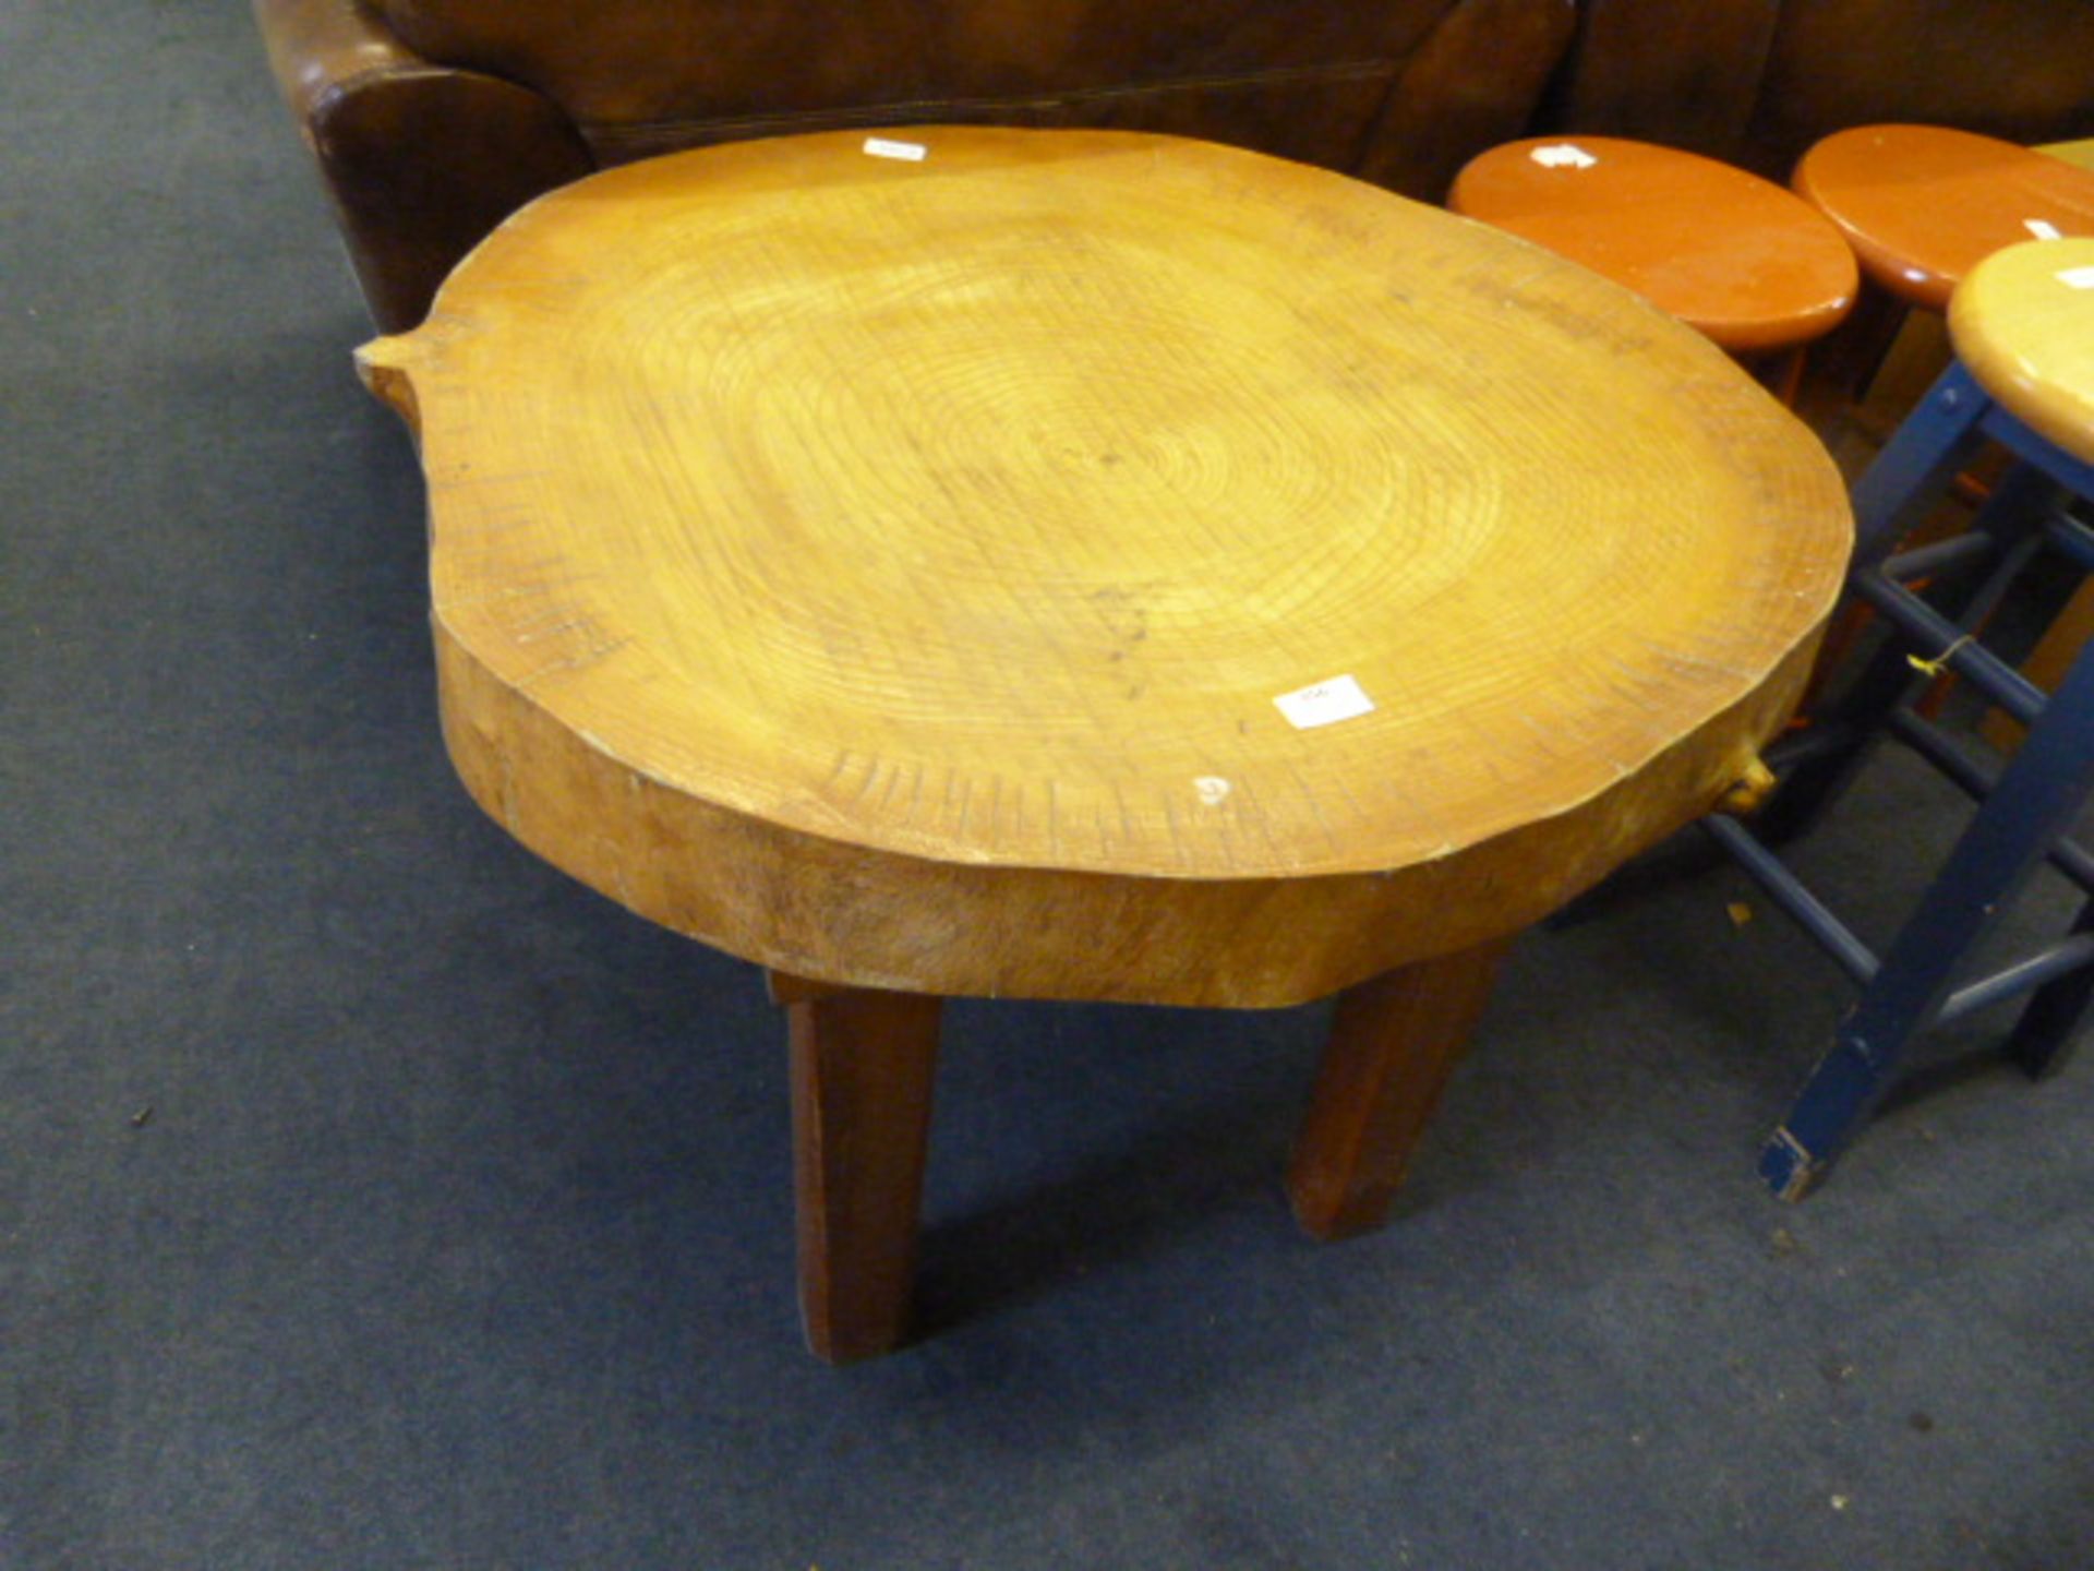
[(436, 651), (444, 744), (473, 800), (651, 922), (812, 982), (1256, 1010), (1514, 934), (1700, 817), (1786, 725), (1818, 633), (1568, 813), (1390, 871), (1246, 880), (938, 863), (785, 829), (626, 769), (442, 624)]

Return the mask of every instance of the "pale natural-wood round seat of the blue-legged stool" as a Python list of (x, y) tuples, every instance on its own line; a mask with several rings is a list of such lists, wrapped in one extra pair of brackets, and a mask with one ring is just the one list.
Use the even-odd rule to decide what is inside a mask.
[(2094, 239), (1993, 251), (1950, 300), (1950, 337), (2014, 419), (2094, 463)]

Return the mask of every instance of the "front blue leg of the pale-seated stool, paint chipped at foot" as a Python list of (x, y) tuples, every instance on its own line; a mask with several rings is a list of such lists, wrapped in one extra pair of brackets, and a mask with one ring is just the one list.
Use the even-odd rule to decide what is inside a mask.
[[(1788, 1121), (1759, 1158), (1761, 1177), (1784, 1200), (1803, 1198), (1868, 1116), (1906, 1043), (1933, 1022), (1956, 980), (1956, 964), (1985, 934), (2050, 846), (2073, 825), (2094, 788), (2094, 651), (2067, 674), (2014, 762), (1985, 798), (1947, 865), (1899, 930), (1891, 953), (1839, 1026)], [(2029, 1003), (2027, 1041), (2042, 1056), (2046, 1033), (2069, 1035), (2084, 972), (2048, 984)], [(2044, 993), (2058, 989), (2044, 1003)], [(2023, 1033), (2017, 1031), (2017, 1037)], [(2054, 1049), (2056, 1043), (2052, 1041)]]

